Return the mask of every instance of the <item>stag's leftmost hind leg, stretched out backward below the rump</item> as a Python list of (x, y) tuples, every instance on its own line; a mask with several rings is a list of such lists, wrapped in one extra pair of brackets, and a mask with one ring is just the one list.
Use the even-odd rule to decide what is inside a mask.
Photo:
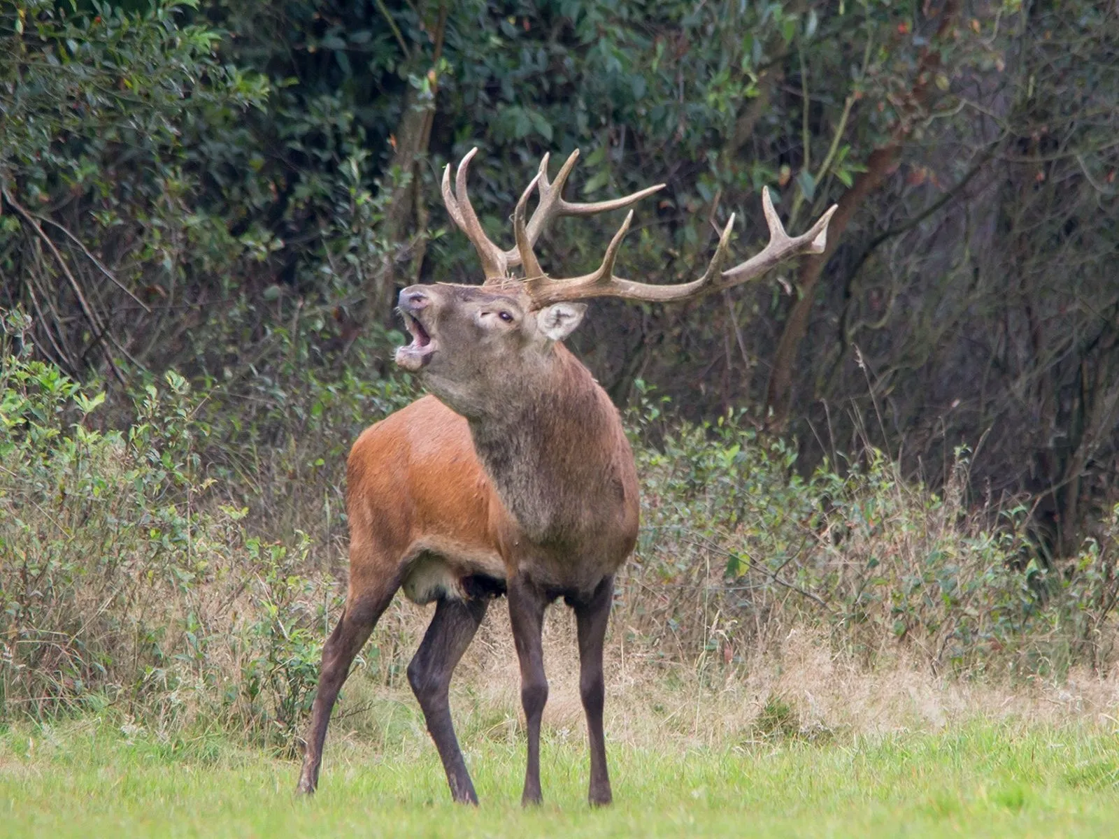
[(303, 769), (299, 774), (295, 792), (312, 793), (319, 785), (319, 765), (322, 763), (322, 745), (327, 739), (327, 724), (330, 711), (338, 699), (338, 691), (349, 676), (350, 664), (369, 639), (382, 613), (399, 587), (399, 577), (378, 581), (374, 585), (355, 587), (354, 568), (350, 568), (350, 591), (346, 607), (338, 625), (322, 647), (322, 670), (319, 689), (311, 708), (311, 725), (307, 733), (307, 751), (303, 753)]

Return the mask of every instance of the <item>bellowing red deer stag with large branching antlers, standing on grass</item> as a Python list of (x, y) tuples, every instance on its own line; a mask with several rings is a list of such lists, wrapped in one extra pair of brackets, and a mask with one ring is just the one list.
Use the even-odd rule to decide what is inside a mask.
[[(432, 394), (367, 428), (350, 452), (347, 506), (350, 576), (346, 607), (322, 650), (300, 792), (318, 783), (330, 710), (358, 650), (398, 588), (435, 614), (408, 681), (423, 709), (455, 801), (477, 803), (451, 724), (451, 673), (486, 614), (505, 594), (520, 662), (528, 728), (523, 803), (540, 801), (540, 715), (548, 696), (540, 649), (544, 610), (557, 597), (575, 611), (580, 692), (591, 752), (590, 801), (611, 800), (602, 733), (602, 648), (614, 573), (633, 549), (638, 482), (618, 411), (562, 343), (585, 309), (575, 301), (614, 296), (688, 300), (760, 276), (782, 260), (820, 253), (828, 210), (802, 236), (786, 234), (768, 192), (770, 242), (753, 258), (722, 270), (734, 217), (699, 279), (650, 285), (614, 276), (614, 258), (632, 210), (598, 271), (573, 279), (544, 273), (533, 246), (557, 216), (627, 207), (660, 189), (598, 204), (563, 199), (579, 152), (548, 181), (547, 155), (514, 213), (516, 247), (502, 251), (482, 232), (467, 194), (472, 150), (443, 175), (443, 199), (485, 271), (481, 285), (436, 283), (401, 292), (412, 342), (396, 364), (417, 373)], [(538, 205), (526, 224), (534, 189)], [(521, 267), (523, 279), (510, 277)]]

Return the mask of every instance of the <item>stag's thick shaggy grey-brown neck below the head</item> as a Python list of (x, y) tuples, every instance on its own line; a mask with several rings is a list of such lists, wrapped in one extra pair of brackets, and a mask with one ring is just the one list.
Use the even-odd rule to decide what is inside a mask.
[(618, 412), (562, 346), (533, 387), (518, 392), (502, 413), (470, 420), (474, 450), (529, 539), (577, 540), (594, 526), (589, 518), (624, 502), (619, 446), (628, 444)]

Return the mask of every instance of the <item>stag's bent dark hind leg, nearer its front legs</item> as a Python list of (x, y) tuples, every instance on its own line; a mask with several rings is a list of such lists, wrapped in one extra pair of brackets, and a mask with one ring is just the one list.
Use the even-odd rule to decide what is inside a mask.
[(451, 675), (481, 625), (488, 605), (488, 596), (470, 600), (441, 597), (435, 603), (435, 616), (424, 633), (420, 649), (408, 664), (408, 684), (420, 701), (427, 730), (443, 761), (451, 796), (464, 804), (477, 804), (478, 795), (462, 760), (459, 739), (454, 736), (448, 690)]

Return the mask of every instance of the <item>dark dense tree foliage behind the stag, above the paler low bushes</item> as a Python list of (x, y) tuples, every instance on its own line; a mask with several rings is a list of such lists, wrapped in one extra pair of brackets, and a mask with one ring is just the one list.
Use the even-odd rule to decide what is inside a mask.
[[(968, 445), (971, 497), (1026, 499), (1069, 554), (1119, 473), (1117, 16), (8, 4), (0, 305), (31, 313), (37, 352), (70, 375), (173, 366), (264, 411), (300, 386), (284, 364), (383, 373), (401, 285), (476, 276), (436, 185), (471, 145), (506, 241), (545, 151), (583, 149), (584, 195), (666, 181), (622, 257), (652, 282), (695, 275), (732, 211), (739, 253), (755, 247), (769, 185), (794, 229), (839, 202), (828, 253), (688, 308), (600, 304), (576, 343), (612, 395), (643, 379), (696, 422), (745, 409), (793, 435), (805, 475), (869, 436), (939, 484), (932, 464)], [(612, 223), (560, 226), (545, 265), (595, 263)]]

